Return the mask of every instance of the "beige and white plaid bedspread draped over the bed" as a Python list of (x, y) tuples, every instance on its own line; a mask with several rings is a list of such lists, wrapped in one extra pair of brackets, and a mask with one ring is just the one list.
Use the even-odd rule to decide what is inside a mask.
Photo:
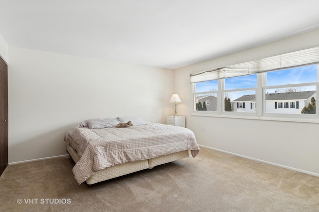
[(191, 130), (159, 123), (100, 129), (74, 126), (66, 132), (64, 140), (81, 157), (73, 167), (75, 179), (79, 184), (94, 172), (117, 164), (183, 150), (190, 150), (195, 157), (199, 152)]

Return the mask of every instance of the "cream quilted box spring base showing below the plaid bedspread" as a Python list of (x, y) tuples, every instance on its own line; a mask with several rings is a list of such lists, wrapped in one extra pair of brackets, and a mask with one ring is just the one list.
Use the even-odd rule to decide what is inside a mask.
[[(75, 163), (80, 160), (80, 157), (76, 153), (76, 151), (67, 144), (67, 152), (73, 159)], [(112, 178), (120, 177), (123, 175), (127, 175), (133, 172), (137, 172), (143, 169), (153, 169), (153, 167), (158, 166), (160, 164), (169, 163), (184, 157), (189, 157), (188, 150), (176, 152), (168, 155), (162, 155), (156, 158), (151, 158), (148, 160), (140, 160), (134, 162), (127, 162), (111, 167), (107, 167), (105, 169), (99, 170), (95, 172), (91, 177), (86, 180), (86, 183), (91, 185), (98, 182), (102, 182), (105, 180), (109, 180)]]

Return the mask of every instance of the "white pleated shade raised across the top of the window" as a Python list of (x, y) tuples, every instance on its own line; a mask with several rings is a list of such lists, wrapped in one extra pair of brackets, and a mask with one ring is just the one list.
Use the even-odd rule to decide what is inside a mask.
[(191, 74), (190, 83), (239, 77), (317, 63), (319, 63), (319, 47)]

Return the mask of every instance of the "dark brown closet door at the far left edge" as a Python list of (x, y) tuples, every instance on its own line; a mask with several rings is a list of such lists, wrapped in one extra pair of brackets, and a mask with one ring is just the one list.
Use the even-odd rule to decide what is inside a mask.
[(0, 176), (8, 165), (8, 67), (0, 57)]

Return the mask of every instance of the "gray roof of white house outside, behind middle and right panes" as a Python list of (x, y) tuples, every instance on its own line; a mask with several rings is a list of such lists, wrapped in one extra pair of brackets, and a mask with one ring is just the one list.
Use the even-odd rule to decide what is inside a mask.
[[(316, 91), (301, 91), (288, 93), (266, 94), (266, 100), (307, 100), (313, 96)], [(233, 102), (249, 102), (255, 101), (256, 95), (244, 95)]]

